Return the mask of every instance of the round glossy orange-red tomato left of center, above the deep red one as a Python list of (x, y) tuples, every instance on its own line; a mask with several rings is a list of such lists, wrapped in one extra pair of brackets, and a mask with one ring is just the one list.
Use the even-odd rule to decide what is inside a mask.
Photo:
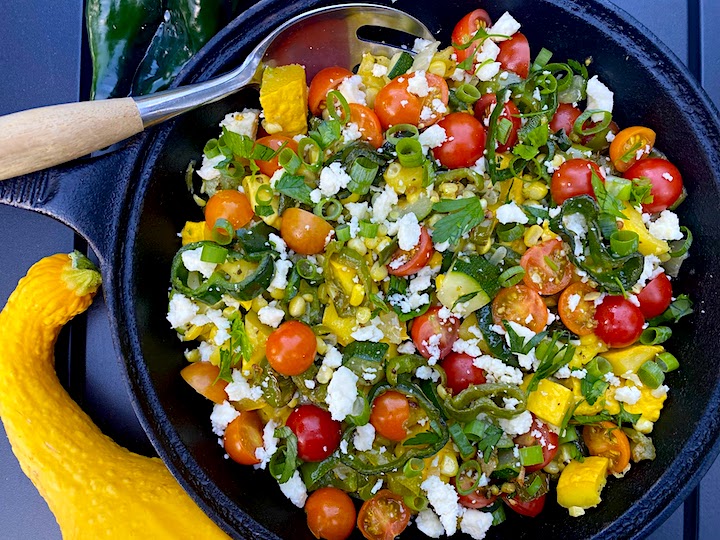
[(281, 375), (300, 375), (309, 368), (317, 352), (317, 339), (312, 329), (300, 321), (287, 321), (268, 336), (265, 356)]

